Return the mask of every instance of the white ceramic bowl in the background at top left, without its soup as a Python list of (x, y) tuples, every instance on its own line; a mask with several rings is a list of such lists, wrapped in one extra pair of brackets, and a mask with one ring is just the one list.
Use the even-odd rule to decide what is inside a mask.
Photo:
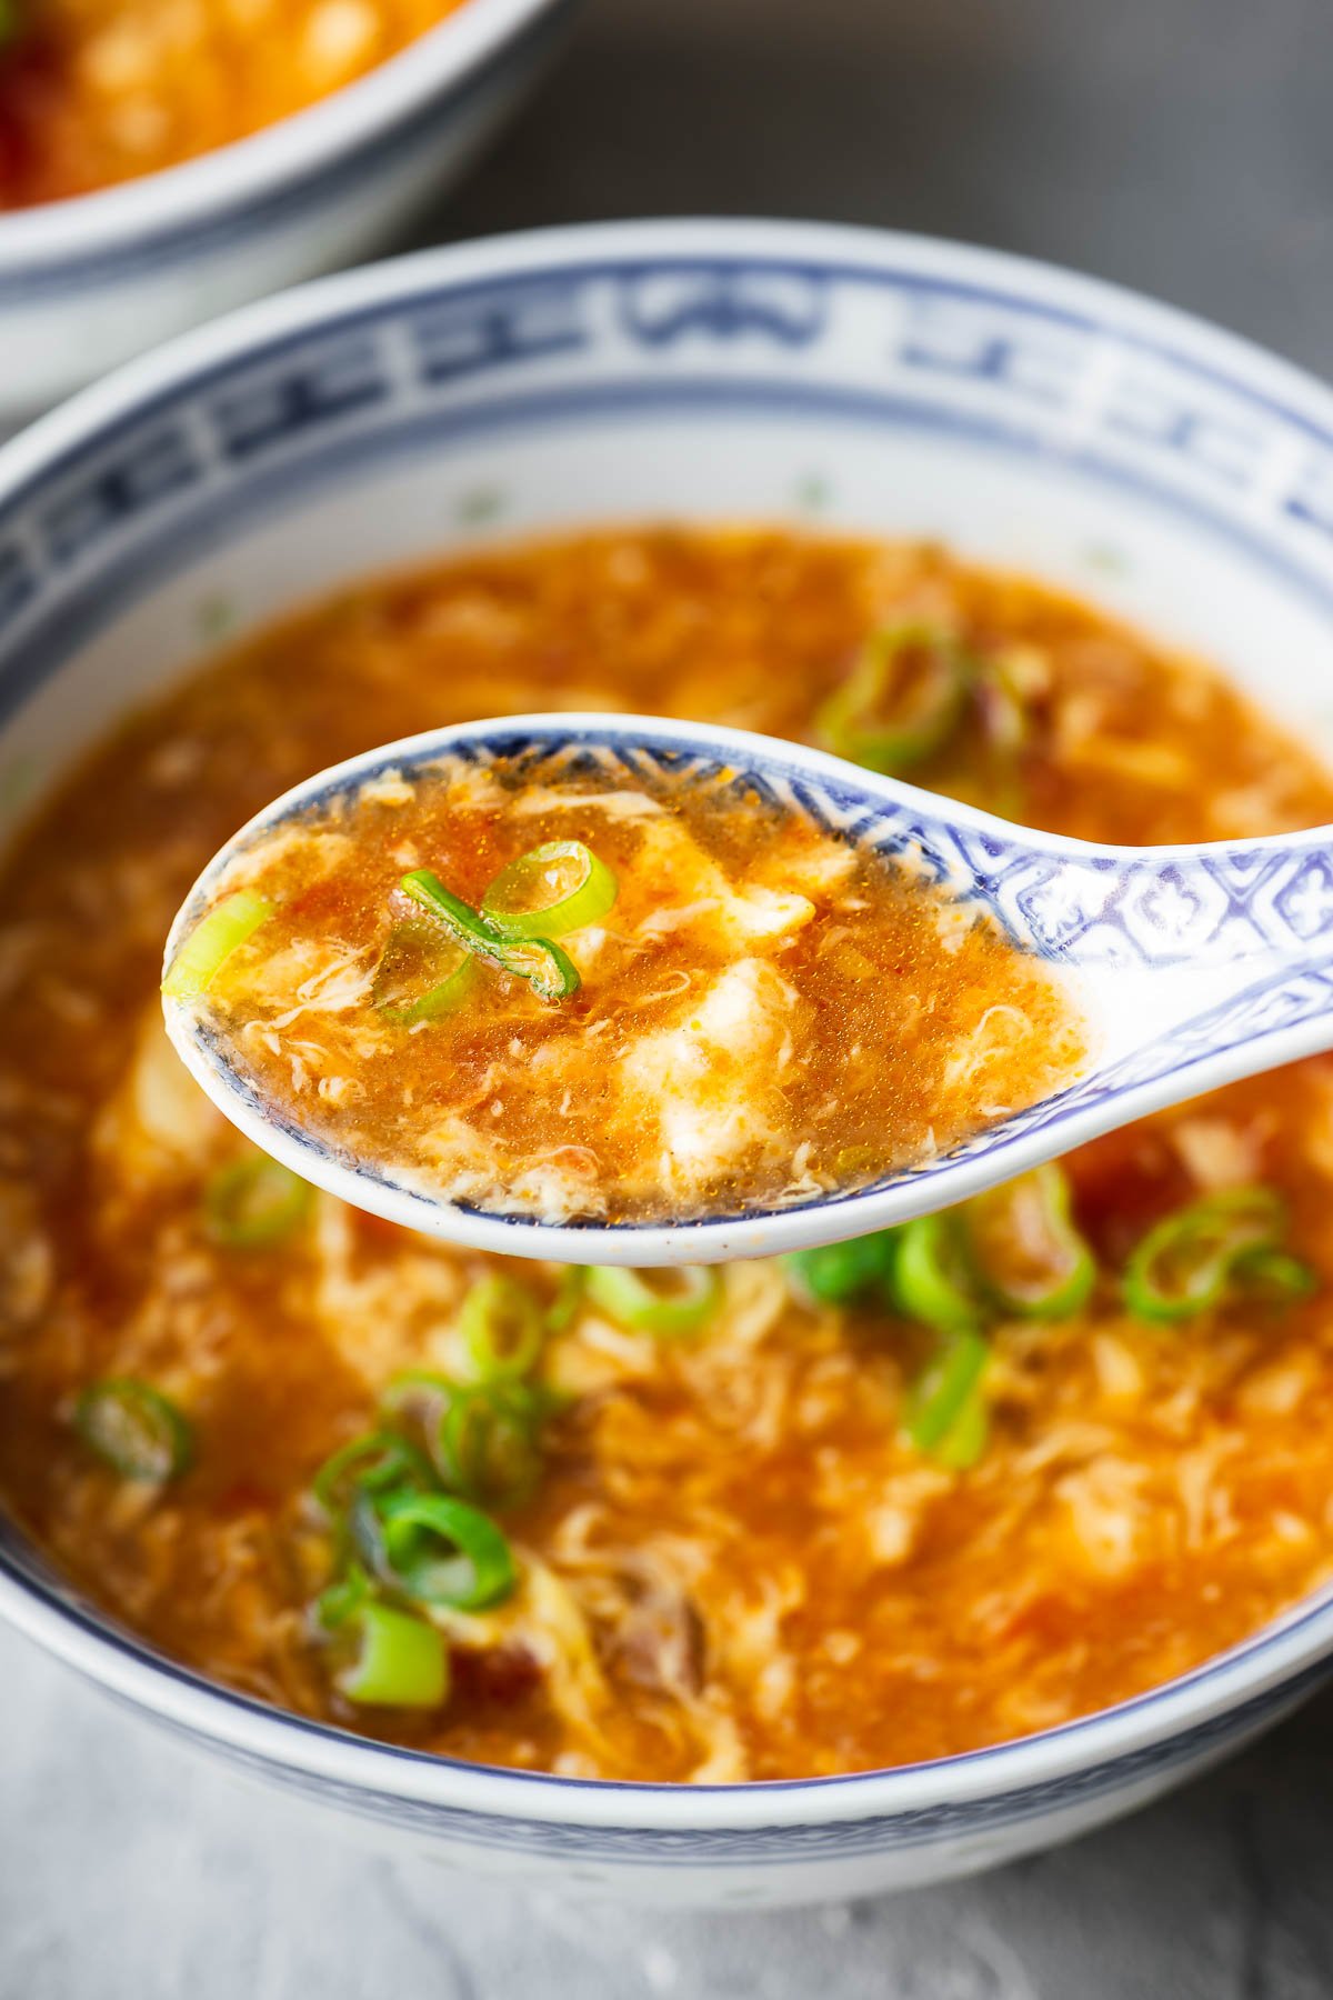
[(0, 436), (170, 334), (376, 250), (472, 164), (572, 8), (466, 0), (252, 138), (0, 214)]

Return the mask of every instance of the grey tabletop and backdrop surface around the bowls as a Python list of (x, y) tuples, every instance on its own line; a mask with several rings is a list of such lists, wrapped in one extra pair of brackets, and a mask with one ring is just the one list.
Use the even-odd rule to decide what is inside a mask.
[[(893, 224), (1077, 264), (1333, 368), (1329, 0), (590, 0), (424, 240)], [(983, 1880), (582, 1912), (366, 1856), (0, 1632), (2, 2000), (1329, 2000), (1333, 1696)]]

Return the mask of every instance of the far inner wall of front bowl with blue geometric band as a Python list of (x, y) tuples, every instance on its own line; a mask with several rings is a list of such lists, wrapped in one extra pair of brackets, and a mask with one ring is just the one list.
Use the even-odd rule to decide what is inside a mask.
[[(664, 224), (314, 286), (10, 446), (0, 836), (128, 704), (302, 600), (644, 518), (935, 536), (1209, 654), (1333, 740), (1327, 392), (1039, 266)], [(1279, 1622), (1293, 1670), (1323, 1624)]]

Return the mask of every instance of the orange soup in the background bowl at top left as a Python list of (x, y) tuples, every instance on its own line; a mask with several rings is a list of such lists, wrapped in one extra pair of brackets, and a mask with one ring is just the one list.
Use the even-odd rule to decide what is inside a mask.
[(4, 0), (0, 210), (90, 194), (260, 132), (462, 0)]

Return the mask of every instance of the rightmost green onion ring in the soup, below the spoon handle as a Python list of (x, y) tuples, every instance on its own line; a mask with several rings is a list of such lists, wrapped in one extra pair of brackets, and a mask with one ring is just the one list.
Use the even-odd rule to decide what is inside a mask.
[(1273, 1188), (1205, 1194), (1143, 1236), (1125, 1264), (1123, 1298), (1137, 1320), (1189, 1320), (1217, 1306), (1243, 1262), (1275, 1250), (1287, 1204)]

